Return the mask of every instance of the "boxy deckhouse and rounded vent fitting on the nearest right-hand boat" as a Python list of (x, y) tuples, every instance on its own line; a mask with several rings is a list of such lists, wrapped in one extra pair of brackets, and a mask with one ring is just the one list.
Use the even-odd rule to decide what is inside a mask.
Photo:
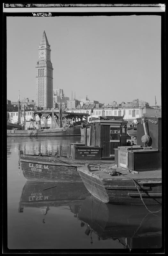
[(161, 117), (137, 118), (137, 145), (115, 149), (115, 164), (132, 171), (162, 168)]

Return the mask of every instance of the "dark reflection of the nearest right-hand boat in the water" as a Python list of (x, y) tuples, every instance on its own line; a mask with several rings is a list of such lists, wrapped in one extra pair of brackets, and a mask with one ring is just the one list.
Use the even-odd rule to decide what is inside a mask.
[(78, 219), (91, 243), (94, 232), (99, 240), (117, 239), (124, 248), (161, 248), (161, 207), (149, 206), (148, 210), (142, 205), (105, 204), (88, 196)]

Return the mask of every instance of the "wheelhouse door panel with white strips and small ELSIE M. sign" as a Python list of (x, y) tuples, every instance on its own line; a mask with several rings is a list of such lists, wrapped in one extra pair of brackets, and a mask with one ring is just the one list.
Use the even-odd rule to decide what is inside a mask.
[(110, 157), (115, 156), (114, 148), (118, 148), (120, 146), (120, 135), (121, 126), (110, 125)]

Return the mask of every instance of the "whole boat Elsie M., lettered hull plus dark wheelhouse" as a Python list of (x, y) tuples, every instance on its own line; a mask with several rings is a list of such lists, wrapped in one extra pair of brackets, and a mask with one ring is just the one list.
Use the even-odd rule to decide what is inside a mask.
[[(58, 182), (82, 182), (77, 167), (85, 164), (110, 166), (114, 163), (114, 147), (126, 145), (126, 123), (127, 121), (122, 120), (99, 119), (92, 121), (90, 145), (87, 146), (87, 129), (85, 126), (84, 143), (70, 143), (67, 148), (67, 156), (28, 155), (23, 154), (23, 151), (20, 150), (21, 169), (28, 180), (35, 178), (36, 180), (44, 180), (46, 175), (49, 177), (49, 181), (52, 180), (51, 177), (54, 177)], [(107, 134), (104, 136), (107, 129), (109, 136)], [(111, 129), (115, 130), (114, 135), (112, 135)], [(116, 139), (118, 140), (116, 141)]]

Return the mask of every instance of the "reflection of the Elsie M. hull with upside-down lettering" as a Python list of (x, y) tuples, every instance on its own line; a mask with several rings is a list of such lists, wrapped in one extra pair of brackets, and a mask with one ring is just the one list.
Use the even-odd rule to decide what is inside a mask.
[(27, 181), (22, 189), (18, 212), (24, 212), (25, 207), (35, 207), (46, 215), (52, 206), (68, 206), (74, 217), (77, 217), (88, 195), (82, 183)]

